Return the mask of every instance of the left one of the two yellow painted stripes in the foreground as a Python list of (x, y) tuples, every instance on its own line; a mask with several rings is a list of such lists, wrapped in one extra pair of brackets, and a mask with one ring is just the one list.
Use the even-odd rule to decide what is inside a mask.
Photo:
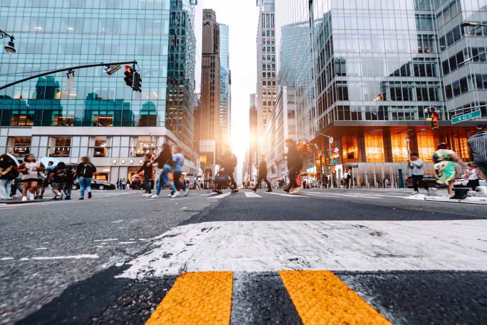
[(230, 323), (233, 272), (182, 273), (146, 325)]

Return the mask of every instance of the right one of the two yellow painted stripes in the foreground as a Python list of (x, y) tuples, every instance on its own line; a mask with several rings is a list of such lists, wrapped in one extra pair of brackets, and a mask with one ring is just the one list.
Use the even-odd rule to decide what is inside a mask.
[(280, 271), (304, 325), (392, 323), (330, 271)]

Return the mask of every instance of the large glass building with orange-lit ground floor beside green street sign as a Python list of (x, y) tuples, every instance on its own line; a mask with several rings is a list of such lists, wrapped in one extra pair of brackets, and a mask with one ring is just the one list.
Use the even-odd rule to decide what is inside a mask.
[[(460, 24), (484, 21), (485, 10), (472, 0), (360, 6), (276, 0), (278, 98), (294, 91), (274, 110), (295, 103), (297, 139), (324, 152), (320, 157), (311, 147), (305, 171), (340, 179), (352, 169), (356, 184), (374, 186), (383, 177), (397, 183), (398, 170), (408, 170), (408, 150), (433, 175), (431, 156), (440, 142), (469, 160), (466, 139), (478, 121), (452, 125), (450, 119), (479, 109), (487, 117), (478, 108), (487, 101), (480, 73), (485, 56), (459, 65), (485, 51), (485, 37), (482, 28)], [(431, 111), (439, 114), (439, 129), (426, 120)], [(278, 153), (280, 140), (274, 146)], [(335, 174), (323, 166), (326, 157), (336, 160)]]

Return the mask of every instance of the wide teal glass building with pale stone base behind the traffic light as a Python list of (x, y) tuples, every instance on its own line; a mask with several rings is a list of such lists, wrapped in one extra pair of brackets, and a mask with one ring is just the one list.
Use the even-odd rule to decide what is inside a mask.
[[(0, 91), (0, 147), (17, 156), (31, 152), (65, 163), (89, 156), (97, 166), (95, 177), (115, 182), (130, 179), (145, 153), (157, 154), (168, 142), (183, 147), (185, 172), (196, 174), (199, 162), (188, 145), (194, 4), (176, 3), (2, 2), (0, 28), (14, 35), (17, 52), (0, 53), (0, 84), (39, 71), (136, 60), (142, 93), (125, 85), (123, 70), (109, 76), (103, 67), (76, 70), (69, 90), (64, 89), (65, 72), (8, 87)], [(170, 28), (175, 28), (171, 35)], [(181, 42), (183, 32), (186, 49), (181, 43), (178, 48), (178, 33)], [(177, 68), (181, 64), (184, 69)], [(168, 71), (173, 77), (168, 78)], [(188, 103), (166, 107), (168, 94), (175, 94), (175, 88), (168, 90), (170, 80), (185, 88), (182, 101)], [(177, 107), (182, 115), (169, 113), (168, 107)], [(173, 121), (174, 133), (166, 128), (166, 117)], [(174, 122), (180, 118), (187, 124)]]

